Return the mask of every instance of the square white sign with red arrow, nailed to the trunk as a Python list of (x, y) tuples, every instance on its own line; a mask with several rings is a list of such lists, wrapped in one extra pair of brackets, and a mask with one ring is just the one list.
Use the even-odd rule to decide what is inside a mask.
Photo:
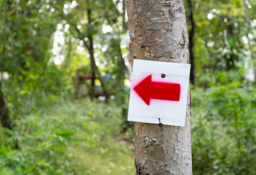
[(184, 126), (190, 65), (133, 60), (128, 121)]

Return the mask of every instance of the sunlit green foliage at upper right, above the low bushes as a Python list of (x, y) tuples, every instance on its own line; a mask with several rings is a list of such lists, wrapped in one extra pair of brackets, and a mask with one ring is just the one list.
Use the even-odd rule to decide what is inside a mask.
[[(247, 32), (251, 33), (251, 45), (255, 52), (255, 18), (253, 7), (255, 1), (246, 0), (248, 7), (249, 26), (241, 0), (191, 0), (192, 9), (187, 0), (184, 1), (186, 13), (193, 12), (195, 20), (195, 83), (202, 87), (202, 77), (214, 75), (218, 71), (233, 70), (236, 72), (243, 67), (248, 54)], [(191, 30), (188, 21), (188, 30)], [(190, 41), (192, 42), (192, 41)], [(255, 54), (254, 54), (255, 55)], [(205, 77), (203, 81), (207, 78)], [(206, 83), (207, 84), (207, 83)], [(210, 85), (211, 86), (211, 85)], [(209, 87), (210, 87), (209, 86)]]

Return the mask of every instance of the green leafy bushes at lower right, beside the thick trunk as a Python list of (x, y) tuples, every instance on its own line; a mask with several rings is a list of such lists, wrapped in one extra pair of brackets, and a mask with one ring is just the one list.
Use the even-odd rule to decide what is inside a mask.
[(195, 174), (255, 174), (255, 94), (240, 82), (192, 91)]

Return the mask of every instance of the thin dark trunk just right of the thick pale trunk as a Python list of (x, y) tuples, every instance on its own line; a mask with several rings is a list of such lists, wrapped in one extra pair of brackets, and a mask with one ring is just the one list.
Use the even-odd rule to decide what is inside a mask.
[(188, 0), (189, 2), (189, 9), (190, 9), (190, 23), (191, 23), (191, 30), (189, 31), (189, 60), (190, 60), (190, 82), (192, 84), (195, 84), (195, 57), (194, 57), (194, 36), (195, 36), (195, 21), (193, 17), (193, 6), (191, 0)]

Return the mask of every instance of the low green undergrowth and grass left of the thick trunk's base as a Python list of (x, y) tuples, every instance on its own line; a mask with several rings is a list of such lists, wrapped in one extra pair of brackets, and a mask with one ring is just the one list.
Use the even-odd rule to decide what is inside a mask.
[[(132, 174), (133, 151), (118, 137), (120, 107), (61, 102), (0, 128), (0, 172), (8, 175)], [(18, 144), (18, 148), (16, 148)], [(105, 173), (103, 173), (105, 172)]]

